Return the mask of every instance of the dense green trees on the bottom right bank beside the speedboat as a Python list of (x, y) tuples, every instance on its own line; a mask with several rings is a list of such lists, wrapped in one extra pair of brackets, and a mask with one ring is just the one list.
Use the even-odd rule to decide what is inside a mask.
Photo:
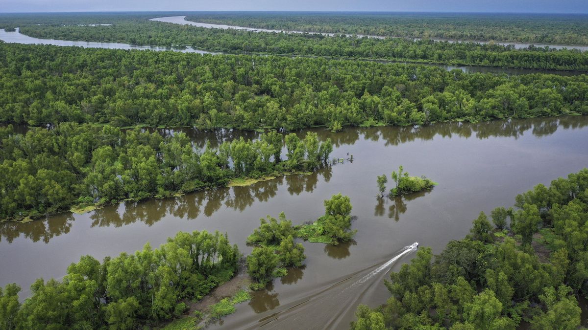
[(386, 304), (360, 307), (352, 329), (578, 328), (576, 297), (588, 295), (588, 169), (535, 186), (515, 207), (492, 211), (495, 228), (480, 213), (470, 235), (435, 257), (420, 248), (390, 274)]

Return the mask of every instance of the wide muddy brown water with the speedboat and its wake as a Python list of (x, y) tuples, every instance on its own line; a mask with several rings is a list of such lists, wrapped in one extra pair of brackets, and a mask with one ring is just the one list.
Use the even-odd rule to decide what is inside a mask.
[[(0, 285), (16, 282), (24, 288), (22, 294), (28, 295), (36, 278), (62, 277), (66, 267), (81, 255), (101, 259), (133, 252), (147, 241), (158, 246), (178, 231), (226, 231), (231, 242), (249, 253), (245, 240), (258, 227), (260, 217), (285, 211), (293, 223), (303, 223), (321, 215), (322, 201), (340, 192), (349, 195), (353, 204), (353, 228), (358, 230), (355, 242), (336, 247), (303, 243), (306, 267), (291, 270), (267, 290), (255, 292), (250, 302), (238, 305), (237, 312), (223, 320), (222, 326), (345, 328), (359, 303), (375, 306), (385, 302), (388, 295), (382, 279), (387, 270), (346, 288), (398, 255), (403, 247), (418, 241), (440, 252), (447, 241), (467, 234), (480, 211), (512, 206), (516, 194), (534, 184), (547, 184), (588, 165), (585, 116), (442, 123), (418, 129), (350, 128), (336, 134), (315, 131), (320, 139), (333, 140), (333, 158), (347, 158), (349, 153), (353, 162), (337, 163), (310, 176), (279, 177), (250, 187), (122, 203), (28, 224), (0, 224)], [(193, 133), (191, 137), (203, 145), (205, 140), (218, 143), (239, 135), (223, 131)], [(376, 176), (389, 174), (400, 164), (410, 174), (425, 174), (439, 186), (408, 198), (377, 200)], [(403, 255), (392, 264), (392, 270), (413, 255)], [(343, 291), (346, 293), (341, 295)], [(317, 305), (327, 314), (316, 312)]]

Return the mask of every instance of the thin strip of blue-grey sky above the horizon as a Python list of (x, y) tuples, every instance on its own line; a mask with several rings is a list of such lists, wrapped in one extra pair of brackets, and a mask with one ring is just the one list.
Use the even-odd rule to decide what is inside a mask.
[(588, 14), (588, 0), (0, 0), (0, 12), (416, 11)]

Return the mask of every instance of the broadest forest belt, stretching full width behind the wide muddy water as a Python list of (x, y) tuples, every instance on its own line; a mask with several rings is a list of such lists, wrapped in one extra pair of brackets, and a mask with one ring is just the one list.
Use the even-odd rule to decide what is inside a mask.
[(588, 113), (588, 76), (0, 44), (0, 122), (412, 125)]

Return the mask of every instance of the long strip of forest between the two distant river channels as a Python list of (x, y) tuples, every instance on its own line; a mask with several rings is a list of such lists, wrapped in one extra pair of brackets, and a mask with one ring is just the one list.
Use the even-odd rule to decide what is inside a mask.
[[(133, 16), (134, 17), (134, 16)], [(97, 22), (107, 22), (100, 19)], [(529, 46), (515, 49), (494, 43), (437, 42), (430, 39), (358, 38), (198, 28), (146, 19), (113, 19), (111, 26), (75, 24), (19, 25), (25, 35), (76, 41), (126, 42), (137, 45), (193, 46), (229, 53), (387, 59), (509, 68), (588, 70), (588, 53)], [(1, 24), (0, 24), (1, 25)]]

